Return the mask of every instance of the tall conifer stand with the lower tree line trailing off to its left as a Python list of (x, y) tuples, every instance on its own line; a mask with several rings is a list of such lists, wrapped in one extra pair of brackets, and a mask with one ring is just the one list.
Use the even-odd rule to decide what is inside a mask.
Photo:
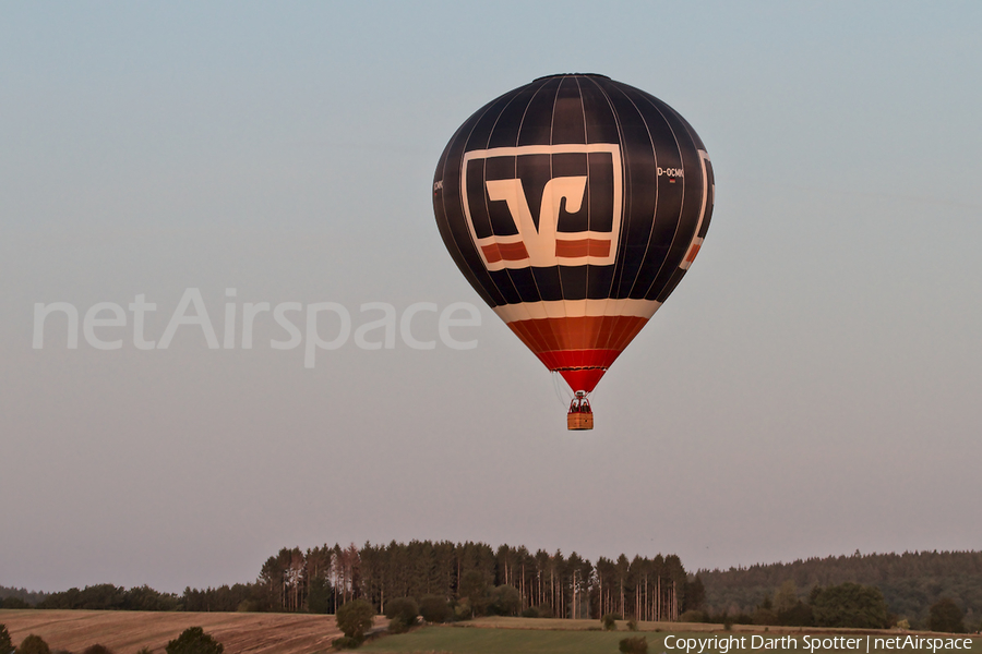
[(452, 617), (487, 614), (527, 617), (678, 620), (700, 607), (698, 577), (675, 555), (625, 555), (592, 562), (576, 553), (531, 553), (524, 546), (447, 541), (283, 548), (252, 583), (187, 588), (182, 595), (148, 586), (100, 584), (45, 594), (38, 608), (336, 613), (362, 598), (379, 611), (402, 597), (436, 598)]

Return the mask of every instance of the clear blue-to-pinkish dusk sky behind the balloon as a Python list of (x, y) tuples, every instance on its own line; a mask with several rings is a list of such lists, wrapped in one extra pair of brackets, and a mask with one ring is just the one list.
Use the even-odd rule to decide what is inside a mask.
[[(687, 570), (982, 548), (979, 3), (0, 16), (0, 585), (179, 593), (282, 547), (414, 538)], [(699, 256), (591, 432), (431, 203), (474, 111), (568, 72), (668, 102), (716, 174)], [(52, 303), (76, 348), (60, 311), (38, 343)], [(350, 338), (309, 353), (322, 303), (320, 338), (345, 315)], [(362, 347), (372, 303), (409, 338)], [(165, 338), (175, 314), (197, 324)]]

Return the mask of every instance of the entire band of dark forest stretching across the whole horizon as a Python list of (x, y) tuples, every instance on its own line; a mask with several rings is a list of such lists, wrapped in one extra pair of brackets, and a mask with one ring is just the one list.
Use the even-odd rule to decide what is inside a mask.
[[(333, 614), (345, 602), (386, 604), (412, 597), (443, 606), (446, 619), (481, 615), (836, 626), (865, 603), (869, 626), (926, 628), (948, 603), (966, 628), (982, 622), (982, 553), (915, 552), (812, 558), (790, 564), (686, 572), (675, 555), (625, 555), (590, 561), (576, 553), (446, 541), (342, 547), (284, 547), (255, 581), (187, 588), (99, 584), (58, 593), (0, 586), (0, 606), (120, 610)], [(837, 613), (838, 611), (838, 613)], [(683, 615), (684, 614), (684, 615)], [(959, 620), (961, 617), (958, 618)]]

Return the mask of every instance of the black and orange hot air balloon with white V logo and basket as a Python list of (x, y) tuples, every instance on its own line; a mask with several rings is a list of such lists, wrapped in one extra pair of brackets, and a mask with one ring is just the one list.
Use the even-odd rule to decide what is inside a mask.
[(692, 264), (712, 167), (671, 107), (603, 75), (540, 77), (476, 111), (447, 143), (433, 210), (457, 267), (574, 391), (589, 393)]

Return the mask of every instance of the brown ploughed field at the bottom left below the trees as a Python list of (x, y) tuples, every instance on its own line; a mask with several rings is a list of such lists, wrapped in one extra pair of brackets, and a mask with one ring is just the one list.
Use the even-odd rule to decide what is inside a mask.
[(14, 644), (36, 633), (52, 651), (76, 653), (99, 643), (116, 654), (141, 647), (159, 654), (189, 627), (203, 627), (226, 654), (313, 654), (330, 650), (340, 635), (334, 616), (291, 614), (25, 609), (0, 610), (0, 625)]

